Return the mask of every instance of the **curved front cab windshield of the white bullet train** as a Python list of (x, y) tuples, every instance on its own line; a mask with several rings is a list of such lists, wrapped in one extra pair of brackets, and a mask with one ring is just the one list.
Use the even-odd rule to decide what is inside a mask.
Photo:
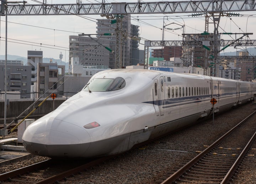
[(116, 79), (92, 79), (83, 91), (115, 91), (124, 88), (126, 85), (125, 80), (122, 77), (117, 77)]

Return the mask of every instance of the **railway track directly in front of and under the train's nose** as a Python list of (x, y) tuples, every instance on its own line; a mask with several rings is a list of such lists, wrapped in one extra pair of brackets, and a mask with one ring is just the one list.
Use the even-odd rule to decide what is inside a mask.
[(59, 180), (73, 176), (73, 174), (84, 171), (87, 168), (96, 166), (113, 156), (101, 157), (95, 160), (64, 160), (49, 159), (30, 166), (22, 167), (14, 171), (0, 174), (0, 183), (33, 183), (51, 184)]

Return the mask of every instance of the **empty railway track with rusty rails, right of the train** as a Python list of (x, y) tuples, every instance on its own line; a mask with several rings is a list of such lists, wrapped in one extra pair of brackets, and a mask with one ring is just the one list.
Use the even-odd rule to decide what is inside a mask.
[(232, 180), (240, 162), (256, 139), (256, 111), (215, 141), (162, 184), (225, 184)]

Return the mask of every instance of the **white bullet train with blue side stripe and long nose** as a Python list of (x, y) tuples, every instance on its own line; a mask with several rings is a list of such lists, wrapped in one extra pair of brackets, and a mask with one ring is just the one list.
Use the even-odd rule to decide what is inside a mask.
[(23, 145), (34, 155), (53, 158), (118, 154), (248, 102), (255, 93), (254, 82), (155, 70), (105, 70), (28, 126)]

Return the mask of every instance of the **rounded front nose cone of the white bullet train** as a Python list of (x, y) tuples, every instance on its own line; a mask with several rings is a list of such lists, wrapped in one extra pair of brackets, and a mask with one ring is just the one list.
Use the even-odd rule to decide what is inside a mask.
[(91, 138), (83, 127), (62, 120), (42, 118), (26, 128), (22, 142), (27, 151), (34, 155), (86, 157)]

